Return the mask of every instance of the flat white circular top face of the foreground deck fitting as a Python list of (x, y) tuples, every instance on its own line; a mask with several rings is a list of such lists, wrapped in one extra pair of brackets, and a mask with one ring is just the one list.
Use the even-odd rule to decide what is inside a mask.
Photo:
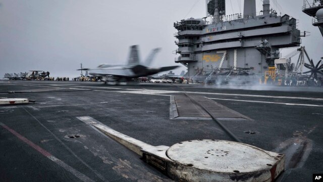
[(269, 170), (281, 157), (250, 145), (219, 140), (180, 142), (168, 149), (167, 156), (186, 166), (223, 173)]

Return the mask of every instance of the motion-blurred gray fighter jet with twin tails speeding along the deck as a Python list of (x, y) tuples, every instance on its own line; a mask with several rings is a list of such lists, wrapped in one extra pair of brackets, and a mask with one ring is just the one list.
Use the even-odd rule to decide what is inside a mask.
[(177, 68), (178, 66), (166, 66), (166, 67), (158, 67), (153, 68), (150, 67), (153, 58), (156, 53), (160, 51), (160, 48), (153, 49), (150, 55), (145, 60), (144, 64), (140, 63), (139, 55), (138, 55), (138, 45), (132, 45), (130, 47), (129, 60), (127, 65), (108, 65), (101, 64), (97, 68), (88, 69), (83, 68), (79, 70), (89, 71), (89, 75), (93, 75), (95, 77), (102, 77), (104, 82), (123, 82), (130, 81), (133, 78), (139, 78), (149, 75), (154, 75), (159, 72), (169, 71)]

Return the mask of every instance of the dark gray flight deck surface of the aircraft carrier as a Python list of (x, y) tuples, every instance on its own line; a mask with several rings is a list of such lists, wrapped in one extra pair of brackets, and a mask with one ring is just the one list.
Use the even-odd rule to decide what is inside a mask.
[[(137, 154), (76, 117), (90, 116), (154, 146), (232, 140), (212, 120), (171, 120), (170, 96), (181, 98), (183, 92), (209, 98), (253, 119), (222, 123), (243, 143), (286, 154), (287, 168), (279, 181), (311, 181), (312, 173), (323, 171), (322, 88), (231, 87), (2, 80), (0, 98), (28, 98), (36, 104), (0, 106), (0, 181), (80, 181), (72, 170), (94, 181), (170, 181)], [(8, 94), (10, 90), (26, 92)], [(47, 153), (35, 150), (17, 133)], [(70, 134), (81, 137), (66, 137)]]

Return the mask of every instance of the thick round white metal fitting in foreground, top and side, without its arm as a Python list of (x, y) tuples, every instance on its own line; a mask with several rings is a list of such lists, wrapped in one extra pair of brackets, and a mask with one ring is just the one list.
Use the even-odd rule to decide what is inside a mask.
[(175, 161), (171, 173), (187, 181), (273, 181), (285, 162), (282, 154), (219, 140), (180, 142), (167, 156)]

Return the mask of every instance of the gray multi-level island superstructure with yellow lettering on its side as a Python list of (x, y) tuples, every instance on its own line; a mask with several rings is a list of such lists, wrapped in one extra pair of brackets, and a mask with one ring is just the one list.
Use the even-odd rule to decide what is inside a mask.
[(188, 76), (214, 69), (250, 68), (248, 74), (263, 75), (275, 66), (281, 48), (299, 47), (301, 33), (296, 19), (278, 15), (270, 1), (256, 12), (255, 0), (244, 1), (244, 14), (226, 15), (225, 0), (207, 0), (205, 18), (174, 23), (178, 30), (176, 63), (188, 68)]

